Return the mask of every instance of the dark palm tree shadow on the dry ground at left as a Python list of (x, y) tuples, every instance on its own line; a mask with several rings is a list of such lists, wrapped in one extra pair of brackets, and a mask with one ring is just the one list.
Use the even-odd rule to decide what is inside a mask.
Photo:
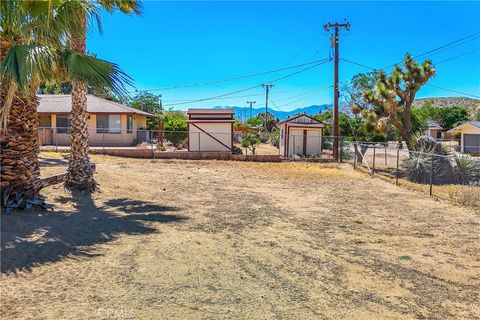
[(121, 235), (157, 232), (152, 223), (181, 222), (166, 214), (178, 208), (126, 198), (95, 205), (89, 194), (60, 197), (73, 210), (15, 212), (2, 216), (1, 273), (30, 271), (32, 267), (67, 257), (97, 255), (93, 247)]

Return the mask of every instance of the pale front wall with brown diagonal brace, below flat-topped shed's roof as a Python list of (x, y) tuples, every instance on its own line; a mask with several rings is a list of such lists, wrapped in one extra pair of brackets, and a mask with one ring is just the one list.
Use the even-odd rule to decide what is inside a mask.
[[(221, 141), (223, 144), (231, 147), (232, 145), (232, 124), (231, 123), (195, 123), (197, 126), (202, 128), (204, 131), (208, 132), (214, 136), (217, 140)], [(188, 139), (189, 139), (189, 148), (190, 151), (227, 151), (230, 152), (228, 148), (223, 146), (221, 143), (202, 132), (200, 129), (188, 124)], [(199, 149), (200, 143), (200, 149)]]

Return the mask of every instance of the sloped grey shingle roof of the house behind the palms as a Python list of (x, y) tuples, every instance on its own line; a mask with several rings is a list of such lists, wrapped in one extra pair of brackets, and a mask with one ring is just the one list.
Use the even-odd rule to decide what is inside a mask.
[[(71, 113), (72, 96), (70, 94), (39, 94), (39, 113)], [(88, 113), (127, 113), (155, 117), (153, 114), (135, 108), (124, 106), (120, 103), (105, 100), (94, 95), (87, 95)]]

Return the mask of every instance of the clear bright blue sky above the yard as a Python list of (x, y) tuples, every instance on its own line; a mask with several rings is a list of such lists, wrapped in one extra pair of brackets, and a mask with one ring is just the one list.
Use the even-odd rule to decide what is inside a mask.
[[(400, 62), (406, 52), (420, 54), (480, 32), (479, 2), (144, 1), (142, 12), (142, 16), (102, 14), (103, 33), (91, 28), (87, 40), (90, 52), (118, 63), (138, 89), (224, 79), (328, 58), (330, 35), (323, 24), (345, 18), (351, 29), (341, 32), (340, 57), (377, 68)], [(477, 37), (423, 57), (439, 62), (430, 83), (480, 95), (479, 48)], [(301, 69), (154, 92), (176, 109), (246, 106), (246, 100), (256, 100), (261, 107), (265, 104), (261, 87), (227, 99), (178, 103), (241, 90)], [(342, 61), (340, 81), (365, 71)], [(330, 62), (278, 81), (270, 97), (282, 110), (331, 103), (332, 81)], [(417, 97), (458, 95), (424, 87)]]

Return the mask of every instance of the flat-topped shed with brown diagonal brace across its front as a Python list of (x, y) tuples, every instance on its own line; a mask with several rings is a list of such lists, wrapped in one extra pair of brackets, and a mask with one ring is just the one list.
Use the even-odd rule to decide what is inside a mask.
[(232, 152), (233, 109), (188, 109), (188, 151)]

